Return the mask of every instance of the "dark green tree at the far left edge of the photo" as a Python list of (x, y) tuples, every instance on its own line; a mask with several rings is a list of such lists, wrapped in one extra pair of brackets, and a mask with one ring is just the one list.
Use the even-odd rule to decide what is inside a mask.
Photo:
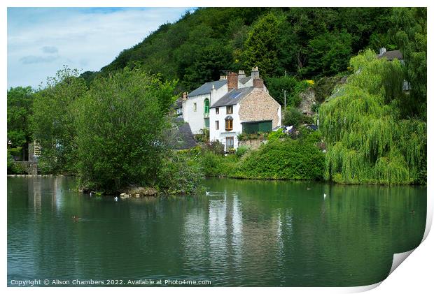
[(21, 149), (25, 159), (25, 150), (32, 141), (30, 115), (34, 92), (31, 87), (15, 87), (8, 90), (8, 140), (14, 149)]

